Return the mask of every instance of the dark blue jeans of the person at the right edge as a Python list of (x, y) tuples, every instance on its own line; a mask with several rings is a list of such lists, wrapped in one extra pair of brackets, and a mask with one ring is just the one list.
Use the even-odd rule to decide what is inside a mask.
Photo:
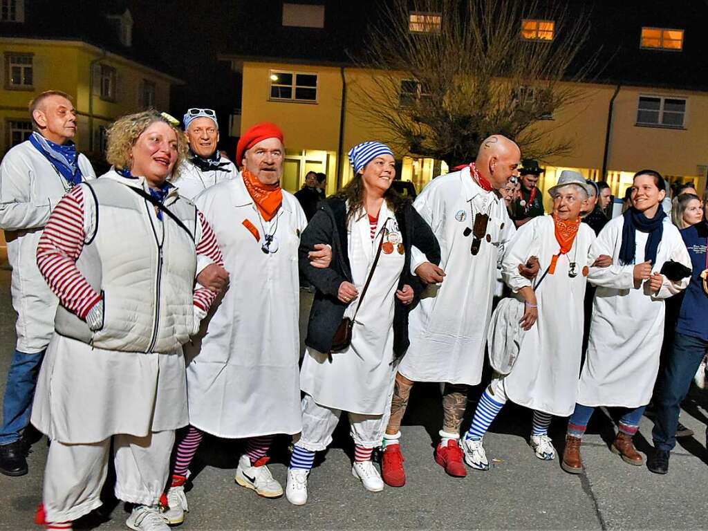
[(676, 445), (676, 426), (681, 402), (685, 399), (691, 380), (708, 353), (708, 342), (701, 338), (676, 332), (673, 348), (663, 373), (659, 375), (656, 392), (656, 420), (651, 430), (654, 447), (670, 450)]

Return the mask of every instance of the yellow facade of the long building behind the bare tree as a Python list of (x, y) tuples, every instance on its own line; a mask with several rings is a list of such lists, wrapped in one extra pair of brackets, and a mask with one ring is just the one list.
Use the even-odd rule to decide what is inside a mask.
[[(377, 90), (375, 71), (223, 59), (231, 60), (232, 68), (243, 78), (241, 132), (262, 121), (282, 127), (287, 148), (283, 184), (287, 190), (299, 189), (305, 173), (314, 170), (327, 173), (327, 193), (333, 193), (352, 176), (348, 149), (365, 140), (386, 137), (362, 116), (354, 96), (361, 89)], [(603, 84), (580, 84), (576, 88), (582, 93), (580, 101), (535, 125), (549, 140), (573, 142), (570, 154), (541, 161), (546, 172), (539, 188), (544, 192), (556, 183), (563, 169), (578, 170), (599, 181), (603, 179), (603, 167), (604, 178), (617, 197), (624, 195), (632, 175), (645, 168), (656, 169), (671, 182), (692, 182), (700, 192), (704, 190), (708, 121), (703, 117), (708, 115), (708, 93)], [(472, 160), (474, 154), (469, 158)], [(401, 178), (412, 181), (418, 191), (447, 171), (441, 161), (409, 153), (396, 153), (396, 159)]]

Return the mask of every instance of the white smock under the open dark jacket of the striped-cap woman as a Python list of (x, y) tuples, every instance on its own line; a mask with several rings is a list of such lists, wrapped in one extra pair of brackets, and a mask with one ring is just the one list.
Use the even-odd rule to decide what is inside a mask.
[[(378, 236), (386, 224), (389, 240), (401, 233), (386, 202), (379, 211), (376, 239), (371, 239), (369, 219), (360, 215), (348, 226), (349, 261), (354, 285), (361, 294), (379, 245)], [(385, 236), (384, 236), (385, 237)], [(387, 241), (387, 239), (384, 239)], [(399, 241), (402, 241), (399, 240)], [(320, 406), (362, 415), (382, 415), (389, 408), (389, 387), (395, 375), (394, 303), (405, 255), (382, 251), (352, 331), (352, 342), (331, 357), (308, 348), (300, 372), (301, 389)], [(354, 314), (358, 298), (344, 316)]]

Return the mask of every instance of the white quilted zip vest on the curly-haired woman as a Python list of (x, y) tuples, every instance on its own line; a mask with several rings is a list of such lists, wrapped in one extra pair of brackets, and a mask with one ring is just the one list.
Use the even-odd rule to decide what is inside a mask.
[(55, 329), (106, 350), (168, 353), (193, 330), (197, 211), (176, 194), (164, 202), (188, 234), (164, 212), (156, 219), (154, 206), (126, 183), (142, 190), (113, 172), (84, 184), (86, 201), (96, 201), (96, 230), (76, 266), (103, 292), (103, 327), (91, 331), (59, 305)]

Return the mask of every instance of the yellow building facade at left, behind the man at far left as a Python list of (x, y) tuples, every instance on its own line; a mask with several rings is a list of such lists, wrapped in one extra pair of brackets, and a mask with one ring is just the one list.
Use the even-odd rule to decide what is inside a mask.
[(101, 160), (105, 128), (137, 110), (169, 107), (170, 89), (182, 81), (86, 42), (1, 38), (0, 157), (31, 132), (29, 101), (47, 90), (74, 98), (76, 144)]

